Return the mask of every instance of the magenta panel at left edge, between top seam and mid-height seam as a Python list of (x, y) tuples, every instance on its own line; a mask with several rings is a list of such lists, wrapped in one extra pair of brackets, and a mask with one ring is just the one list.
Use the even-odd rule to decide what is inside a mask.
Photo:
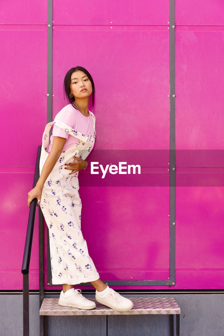
[[(35, 166), (47, 108), (47, 30), (43, 27), (0, 26), (2, 96), (1, 166)], [(20, 43), (18, 43), (20, 41)], [(4, 127), (3, 127), (4, 125)]]

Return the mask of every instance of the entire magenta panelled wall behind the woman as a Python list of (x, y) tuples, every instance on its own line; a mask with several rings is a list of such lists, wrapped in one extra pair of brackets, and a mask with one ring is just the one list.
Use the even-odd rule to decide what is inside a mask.
[[(15, 14), (3, 9), (0, 26), (2, 136), (9, 140), (0, 168), (2, 290), (22, 289), (27, 193), (47, 119), (47, 2), (11, 4), (17, 6)], [(128, 149), (134, 155), (134, 150), (169, 150), (169, 1), (132, 0), (128, 6), (87, 1), (88, 12), (79, 8), (82, 5), (53, 0), (53, 117), (67, 104), (65, 73), (81, 65), (91, 73), (97, 90), (95, 150)], [(175, 4), (175, 289), (223, 288), (224, 162), (212, 154), (223, 149), (224, 139), (223, 9), (221, 1), (212, 0), (203, 7), (199, 1)], [(196, 150), (204, 150), (203, 162)], [(168, 155), (159, 164), (146, 166), (152, 176), (163, 173), (169, 185), (169, 151), (164, 152)], [(206, 173), (201, 167), (213, 166), (221, 169), (216, 185), (209, 186), (215, 173), (210, 168), (208, 183), (200, 186), (198, 176)], [(189, 177), (196, 181), (188, 183)], [(102, 280), (168, 280), (169, 186), (85, 186), (80, 196), (83, 236)], [(44, 239), (46, 246), (46, 226)], [(38, 289), (38, 281), (37, 222), (30, 289)]]

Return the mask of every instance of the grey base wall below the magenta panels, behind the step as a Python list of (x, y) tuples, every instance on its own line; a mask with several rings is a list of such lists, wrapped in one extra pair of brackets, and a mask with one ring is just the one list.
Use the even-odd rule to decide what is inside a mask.
[[(86, 297), (93, 297), (87, 294)], [(124, 295), (126, 297), (140, 294)], [(181, 336), (223, 336), (224, 294), (143, 294), (173, 296), (181, 308)], [(45, 297), (59, 297), (49, 294)], [(48, 316), (48, 336), (168, 336), (166, 315)], [(0, 294), (0, 335), (23, 335), (23, 295)], [(30, 294), (30, 336), (39, 336), (39, 295)]]

